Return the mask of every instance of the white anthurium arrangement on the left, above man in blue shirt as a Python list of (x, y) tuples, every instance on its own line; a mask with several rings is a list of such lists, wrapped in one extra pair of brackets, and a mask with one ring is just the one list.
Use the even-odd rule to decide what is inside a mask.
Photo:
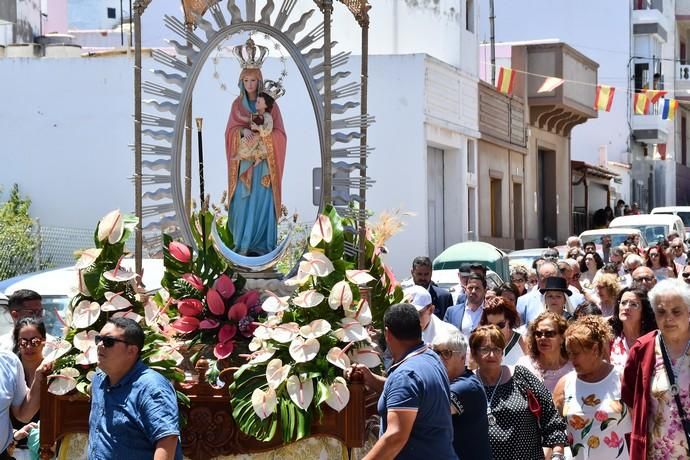
[[(54, 361), (48, 391), (64, 395), (75, 388), (90, 392), (98, 361), (95, 336), (108, 318), (124, 316), (144, 327), (142, 360), (173, 381), (184, 374), (177, 367), (182, 355), (177, 351), (165, 309), (159, 308), (138, 283), (138, 275), (122, 267), (125, 242), (137, 219), (119, 210), (103, 217), (94, 235), (95, 247), (82, 251), (75, 264), (75, 295), (64, 318), (64, 339), (46, 343), (46, 361)], [(186, 397), (178, 392), (178, 398)]]

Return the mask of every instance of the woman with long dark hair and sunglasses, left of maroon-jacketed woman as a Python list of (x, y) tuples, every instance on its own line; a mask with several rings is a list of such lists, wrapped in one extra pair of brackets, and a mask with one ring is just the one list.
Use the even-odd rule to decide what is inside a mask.
[(652, 305), (643, 289), (625, 288), (618, 295), (613, 316), (609, 319), (613, 329), (611, 364), (621, 372), (628, 360), (628, 351), (635, 341), (657, 328)]

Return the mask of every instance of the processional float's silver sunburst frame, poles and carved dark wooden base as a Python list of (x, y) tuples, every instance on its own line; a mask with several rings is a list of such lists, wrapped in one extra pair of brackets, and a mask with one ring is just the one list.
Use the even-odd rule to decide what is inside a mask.
[[(367, 176), (367, 157), (373, 150), (367, 145), (367, 128), (374, 121), (367, 113), (367, 0), (314, 0), (315, 8), (299, 17), (293, 15), (297, 0), (276, 0), (278, 5), (274, 0), (182, 0), (185, 19), (167, 15), (164, 18), (167, 28), (178, 36), (178, 40), (170, 40), (175, 56), (154, 50), (152, 57), (161, 68), (153, 71), (152, 80), (142, 83), (141, 17), (150, 2), (135, 0), (133, 5), (136, 271), (141, 273), (144, 249), (149, 254), (160, 254), (163, 232), (195, 246), (189, 221), (192, 96), (211, 53), (224, 40), (241, 34), (271, 37), (287, 51), (299, 70), (318, 130), (322, 169), (319, 210), (334, 204), (358, 223), (359, 247), (349, 250), (356, 253), (358, 266), (363, 268), (366, 191), (373, 183)], [(337, 70), (348, 63), (350, 53), (332, 52), (336, 45), (331, 40), (334, 3), (342, 3), (360, 26), (361, 80), (351, 78), (348, 71)], [(142, 91), (156, 99), (143, 100)], [(144, 105), (158, 114), (143, 113)], [(201, 182), (203, 187), (203, 179)], [(203, 203), (203, 189), (201, 197)], [(352, 202), (357, 205), (348, 206)], [(230, 265), (254, 278), (258, 286), (262, 274), (275, 278), (271, 268), (282, 256), (289, 238), (288, 234), (268, 254), (252, 256), (238, 254), (223, 245), (215, 226), (208, 233), (204, 236), (213, 239)], [(187, 420), (182, 432), (186, 457), (208, 459), (266, 452), (283, 445), (280, 436), (262, 442), (242, 433), (233, 420), (227, 388), (206, 383), (203, 360), (197, 370), (198, 381), (178, 386), (191, 401), (188, 409), (182, 409)], [(232, 381), (232, 373), (225, 371), (220, 379), (227, 385)], [(364, 446), (365, 425), (375, 413), (376, 398), (367, 394), (361, 382), (351, 382), (349, 391), (347, 407), (340, 413), (326, 408), (321, 418), (314, 419), (311, 436), (336, 438), (346, 449)], [(53, 457), (56, 443), (67, 434), (88, 433), (90, 402), (83, 395), (53, 395), (45, 386), (41, 398), (41, 458), (48, 459)]]

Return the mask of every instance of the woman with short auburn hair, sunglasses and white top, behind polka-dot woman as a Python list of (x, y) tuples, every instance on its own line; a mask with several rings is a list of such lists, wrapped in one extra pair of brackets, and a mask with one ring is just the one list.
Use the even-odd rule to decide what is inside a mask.
[(493, 324), (503, 333), (506, 346), (503, 349), (503, 364), (513, 366), (518, 359), (525, 356), (527, 345), (522, 336), (515, 331), (520, 326), (520, 317), (515, 304), (503, 297), (492, 297), (484, 301), (484, 311), (479, 320), (480, 326)]

